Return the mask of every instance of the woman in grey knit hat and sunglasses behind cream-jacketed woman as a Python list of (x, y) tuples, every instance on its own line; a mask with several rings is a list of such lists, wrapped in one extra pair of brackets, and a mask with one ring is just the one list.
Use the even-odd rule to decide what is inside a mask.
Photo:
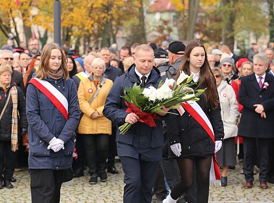
[(232, 58), (224, 58), (221, 61), (220, 68), (228, 84), (231, 85), (232, 81), (238, 78), (238, 75), (235, 73), (235, 64)]

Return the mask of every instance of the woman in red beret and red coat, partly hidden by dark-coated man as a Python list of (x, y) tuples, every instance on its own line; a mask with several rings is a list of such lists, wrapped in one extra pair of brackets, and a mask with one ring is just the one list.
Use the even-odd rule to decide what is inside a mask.
[[(243, 105), (239, 104), (239, 101), (238, 101), (239, 86), (241, 85), (242, 77), (248, 76), (253, 73), (253, 63), (250, 62), (247, 58), (242, 58), (242, 59), (239, 59), (238, 65), (240, 65), (239, 66), (239, 74), (240, 75), (236, 80), (232, 81), (232, 88), (234, 89), (234, 92), (236, 94), (236, 99), (237, 99), (237, 103), (238, 103), (238, 107), (239, 107), (238, 111), (241, 114), (242, 110), (243, 110)], [(243, 171), (243, 161), (244, 161), (243, 138), (237, 137), (237, 139), (239, 140), (239, 141), (236, 140), (236, 143), (237, 142), (239, 143), (239, 148), (237, 150), (238, 159), (239, 159), (239, 172), (241, 174), (244, 174), (244, 171)], [(256, 173), (256, 170), (254, 170), (254, 172)]]

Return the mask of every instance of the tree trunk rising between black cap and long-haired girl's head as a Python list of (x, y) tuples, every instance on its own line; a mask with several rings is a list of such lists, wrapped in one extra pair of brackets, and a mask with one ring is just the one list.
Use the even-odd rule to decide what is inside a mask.
[(190, 41), (194, 37), (195, 23), (197, 19), (200, 0), (192, 0), (188, 2), (188, 29), (186, 40)]

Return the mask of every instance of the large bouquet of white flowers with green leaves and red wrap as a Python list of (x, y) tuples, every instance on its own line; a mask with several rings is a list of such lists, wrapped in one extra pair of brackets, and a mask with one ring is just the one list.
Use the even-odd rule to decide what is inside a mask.
[[(136, 83), (131, 88), (125, 88), (124, 95), (125, 104), (128, 107), (127, 113), (135, 113), (139, 116), (140, 122), (144, 122), (151, 127), (155, 127), (154, 119), (159, 119), (157, 113), (166, 113), (160, 109), (171, 107), (173, 109), (181, 107), (181, 103), (188, 100), (199, 100), (205, 89), (193, 90), (190, 86), (197, 82), (190, 83), (193, 75), (188, 76), (183, 71), (180, 72), (180, 77), (177, 82), (174, 79), (165, 79), (165, 82), (160, 82), (158, 88), (153, 86), (141, 88)], [(183, 81), (187, 80), (185, 83)], [(167, 112), (170, 113), (170, 112)], [(120, 133), (124, 134), (131, 126), (130, 123), (125, 123), (119, 127)]]

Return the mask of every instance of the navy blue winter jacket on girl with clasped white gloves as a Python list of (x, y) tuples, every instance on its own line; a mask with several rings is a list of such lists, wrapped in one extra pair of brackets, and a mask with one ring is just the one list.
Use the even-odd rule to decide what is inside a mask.
[[(64, 78), (44, 79), (59, 90), (68, 102), (68, 120), (51, 103), (49, 98), (29, 83), (26, 93), (26, 114), (29, 123), (29, 169), (63, 170), (72, 166), (74, 135), (79, 123), (80, 111), (74, 81)], [(48, 150), (54, 137), (64, 141), (64, 150)]]

